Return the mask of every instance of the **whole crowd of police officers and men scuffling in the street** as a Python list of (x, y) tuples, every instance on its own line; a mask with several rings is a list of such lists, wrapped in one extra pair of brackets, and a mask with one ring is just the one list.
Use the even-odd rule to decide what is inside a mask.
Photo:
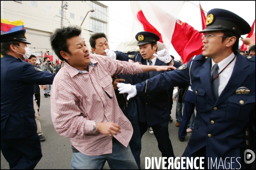
[[(204, 157), (205, 169), (207, 158), (253, 169), (255, 161), (249, 167), (242, 154), (255, 151), (255, 45), (241, 39), (248, 49), (238, 50), (251, 28), (224, 9), (210, 10), (206, 25), (203, 53), (186, 64), (158, 49), (160, 37), (148, 31), (135, 35), (139, 51), (128, 53), (111, 51), (107, 36), (95, 33), (90, 54), (81, 28), (58, 28), (50, 37), (58, 65), (49, 57), (36, 63), (25, 29), (1, 34), (1, 151), (10, 169), (33, 169), (42, 157), (40, 88), (50, 96), (56, 132), (70, 138), (72, 169), (102, 169), (106, 161), (111, 169), (140, 169), (147, 131), (162, 156), (175, 159), (168, 129), (173, 100), (180, 142), (192, 133), (182, 157)], [(194, 163), (199, 167), (199, 159)]]

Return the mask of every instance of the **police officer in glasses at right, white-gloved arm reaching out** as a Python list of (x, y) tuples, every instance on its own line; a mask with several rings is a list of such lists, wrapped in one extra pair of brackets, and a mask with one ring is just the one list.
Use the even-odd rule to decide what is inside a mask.
[[(197, 115), (183, 157), (204, 157), (205, 168), (245, 168), (241, 155), (244, 128), (252, 120), (250, 116), (255, 118), (255, 56), (244, 57), (236, 50), (239, 37), (251, 28), (244, 19), (224, 9), (210, 10), (206, 25), (200, 31), (205, 33), (202, 54), (175, 71), (130, 86), (134, 93), (128, 85), (120, 83), (117, 87), (132, 97), (190, 82)], [(255, 135), (255, 119), (250, 123)], [(211, 159), (221, 167), (213, 165)]]

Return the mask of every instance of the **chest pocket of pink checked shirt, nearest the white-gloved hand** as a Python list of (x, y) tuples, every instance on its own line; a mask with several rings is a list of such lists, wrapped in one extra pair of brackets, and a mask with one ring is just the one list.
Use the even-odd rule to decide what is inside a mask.
[(110, 74), (107, 74), (104, 77), (102, 77), (99, 81), (106, 95), (111, 99), (115, 95), (114, 88), (112, 85), (112, 77), (110, 76)]

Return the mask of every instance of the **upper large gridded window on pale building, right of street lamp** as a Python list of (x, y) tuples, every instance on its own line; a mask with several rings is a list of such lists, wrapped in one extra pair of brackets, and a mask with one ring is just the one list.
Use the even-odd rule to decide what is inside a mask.
[(105, 6), (101, 6), (98, 3), (90, 1), (90, 9), (95, 10), (95, 12), (90, 13), (90, 16), (99, 18), (103, 21), (107, 21), (107, 8)]

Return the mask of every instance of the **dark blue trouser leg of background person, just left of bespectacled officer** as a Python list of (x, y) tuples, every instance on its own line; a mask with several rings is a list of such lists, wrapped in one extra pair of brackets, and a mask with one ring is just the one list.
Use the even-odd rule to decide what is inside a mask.
[(185, 100), (184, 110), (183, 110), (183, 116), (181, 119), (178, 135), (179, 138), (185, 138), (186, 136), (186, 127), (189, 124), (189, 120), (195, 111), (195, 104), (188, 102)]

